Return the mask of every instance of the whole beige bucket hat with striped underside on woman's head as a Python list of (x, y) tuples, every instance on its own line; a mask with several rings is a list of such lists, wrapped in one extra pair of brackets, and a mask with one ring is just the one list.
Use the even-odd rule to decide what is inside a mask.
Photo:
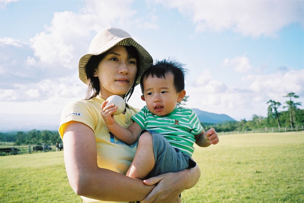
[(80, 58), (78, 66), (80, 80), (85, 84), (88, 82), (87, 74), (85, 73), (85, 66), (91, 56), (102, 54), (117, 45), (134, 46), (136, 48), (140, 56), (140, 65), (139, 77), (134, 81), (134, 83), (135, 85), (138, 85), (140, 83), (140, 77), (143, 72), (152, 65), (153, 59), (147, 50), (138, 44), (128, 32), (113, 27), (98, 32), (92, 39), (89, 53)]

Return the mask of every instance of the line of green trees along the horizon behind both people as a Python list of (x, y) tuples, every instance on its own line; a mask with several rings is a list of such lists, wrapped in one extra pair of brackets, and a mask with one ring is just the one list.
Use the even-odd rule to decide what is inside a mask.
[[(222, 123), (202, 123), (204, 129), (214, 127), (217, 132), (229, 132), (229, 131), (245, 131), (254, 130), (259, 128), (271, 128), (271, 127), (301, 127), (304, 125), (304, 110), (299, 109), (302, 106), (301, 102), (295, 102), (294, 99), (299, 98), (295, 93), (288, 93), (286, 96), (288, 100), (285, 102), (283, 109), (286, 111), (279, 112), (278, 108), (282, 105), (280, 102), (269, 100), (267, 102), (267, 117), (253, 115), (252, 120), (242, 119), (240, 121), (225, 121)], [(185, 96), (183, 103), (187, 102), (188, 96)], [(61, 142), (58, 131), (50, 130), (31, 130), (28, 132), (19, 131), (14, 134), (1, 133), (0, 141), (2, 142), (14, 142), (15, 145), (21, 144), (55, 144)]]

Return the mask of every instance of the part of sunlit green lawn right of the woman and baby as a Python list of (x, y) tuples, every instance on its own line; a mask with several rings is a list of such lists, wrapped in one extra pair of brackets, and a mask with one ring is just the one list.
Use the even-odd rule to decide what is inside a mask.
[(304, 132), (219, 137), (195, 148), (202, 174), (183, 202), (304, 202)]

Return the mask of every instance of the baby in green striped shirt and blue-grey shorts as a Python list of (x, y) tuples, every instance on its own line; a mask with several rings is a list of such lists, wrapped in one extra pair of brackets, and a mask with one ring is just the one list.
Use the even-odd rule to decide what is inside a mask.
[(114, 120), (114, 104), (102, 103), (102, 117), (115, 137), (133, 144), (140, 135), (126, 175), (144, 179), (194, 167), (193, 144), (208, 147), (217, 144), (219, 137), (214, 128), (205, 132), (193, 110), (176, 107), (186, 94), (183, 64), (174, 60), (154, 63), (143, 73), (140, 87), (147, 105), (132, 117), (135, 122), (128, 128)]

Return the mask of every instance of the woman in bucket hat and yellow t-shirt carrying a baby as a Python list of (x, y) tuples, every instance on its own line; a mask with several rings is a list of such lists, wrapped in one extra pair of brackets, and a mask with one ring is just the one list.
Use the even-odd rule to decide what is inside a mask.
[[(60, 117), (64, 161), (71, 187), (84, 202), (181, 202), (179, 194), (199, 180), (198, 167), (142, 181), (125, 176), (136, 151), (109, 133), (100, 114), (111, 95), (126, 101), (152, 63), (150, 54), (125, 31), (109, 28), (90, 44), (79, 61), (79, 78), (88, 84), (85, 100), (68, 103)], [(92, 92), (92, 94), (91, 94)], [(115, 121), (124, 127), (137, 109), (126, 105)], [(157, 185), (156, 185), (157, 184)]]

